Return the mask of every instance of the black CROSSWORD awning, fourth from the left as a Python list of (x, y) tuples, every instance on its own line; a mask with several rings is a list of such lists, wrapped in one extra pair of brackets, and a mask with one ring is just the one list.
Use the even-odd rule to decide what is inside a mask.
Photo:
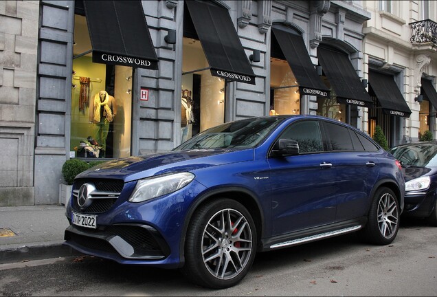
[(317, 58), (337, 95), (337, 102), (362, 107), (373, 106), (372, 99), (363, 87), (348, 55), (319, 46)]

